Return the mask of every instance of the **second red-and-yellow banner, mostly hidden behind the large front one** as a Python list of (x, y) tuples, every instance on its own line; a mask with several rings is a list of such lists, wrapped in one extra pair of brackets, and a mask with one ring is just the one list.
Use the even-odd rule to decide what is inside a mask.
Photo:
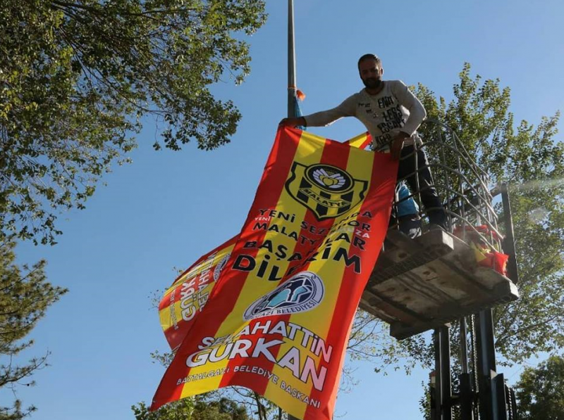
[[(368, 132), (345, 141), (345, 144), (364, 149), (372, 143)], [(159, 303), (159, 319), (164, 336), (173, 351), (184, 340), (195, 317), (204, 309), (210, 293), (231, 255), (239, 235), (203, 255), (173, 281)]]

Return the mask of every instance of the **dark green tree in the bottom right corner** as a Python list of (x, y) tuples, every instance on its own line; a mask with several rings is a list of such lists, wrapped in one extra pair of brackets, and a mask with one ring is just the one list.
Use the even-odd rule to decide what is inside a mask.
[(564, 357), (551, 356), (536, 368), (527, 367), (515, 385), (522, 420), (564, 417)]

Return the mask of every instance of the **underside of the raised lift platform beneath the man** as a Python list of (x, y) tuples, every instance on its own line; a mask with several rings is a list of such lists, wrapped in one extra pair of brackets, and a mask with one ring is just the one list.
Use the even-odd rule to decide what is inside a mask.
[(390, 230), (360, 307), (401, 340), (518, 297), (517, 286), (479, 267), (460, 238), (432, 230), (412, 240)]

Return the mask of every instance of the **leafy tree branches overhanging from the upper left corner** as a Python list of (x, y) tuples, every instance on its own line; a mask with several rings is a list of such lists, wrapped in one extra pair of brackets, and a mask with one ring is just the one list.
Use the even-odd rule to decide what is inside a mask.
[(239, 33), (265, 18), (264, 0), (1, 1), (1, 231), (54, 243), (147, 116), (157, 149), (226, 144), (240, 113), (209, 86), (243, 81)]

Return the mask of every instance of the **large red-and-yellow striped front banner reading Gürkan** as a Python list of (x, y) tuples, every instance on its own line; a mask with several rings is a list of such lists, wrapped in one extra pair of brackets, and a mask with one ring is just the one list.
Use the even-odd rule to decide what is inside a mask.
[[(389, 154), (278, 129), (231, 258), (204, 310), (186, 321), (191, 326), (152, 409), (236, 385), (300, 419), (331, 419), (396, 172)], [(221, 265), (205, 261), (202, 268)], [(212, 270), (191, 279), (204, 271), (209, 277)]]

